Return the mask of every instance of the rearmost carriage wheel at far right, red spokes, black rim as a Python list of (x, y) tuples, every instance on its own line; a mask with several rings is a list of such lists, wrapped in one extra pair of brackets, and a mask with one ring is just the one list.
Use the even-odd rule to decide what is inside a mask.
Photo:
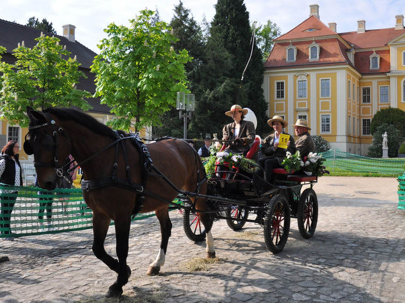
[(297, 221), (301, 236), (304, 239), (312, 237), (318, 222), (318, 199), (311, 188), (305, 189), (301, 194)]

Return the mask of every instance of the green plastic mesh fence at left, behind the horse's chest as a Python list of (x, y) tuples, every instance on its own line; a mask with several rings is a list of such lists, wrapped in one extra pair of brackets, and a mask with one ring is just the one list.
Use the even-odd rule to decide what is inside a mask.
[[(0, 238), (67, 232), (93, 227), (92, 210), (85, 204), (81, 189), (55, 189), (44, 192), (37, 187), (8, 186), (0, 183), (0, 196), (16, 197), (12, 208), (6, 205), (7, 199), (1, 200)], [(64, 211), (64, 203), (66, 211)], [(12, 213), (9, 218), (4, 212), (10, 210)], [(49, 215), (51, 218), (48, 218)], [(154, 216), (154, 213), (138, 214), (133, 221), (151, 216)], [(111, 221), (111, 225), (113, 224), (114, 222)], [(9, 231), (12, 233), (9, 234)]]

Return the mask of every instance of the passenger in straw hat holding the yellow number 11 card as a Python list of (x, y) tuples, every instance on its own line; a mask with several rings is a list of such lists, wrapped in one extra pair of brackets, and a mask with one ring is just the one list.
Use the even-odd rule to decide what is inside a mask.
[[(273, 180), (271, 176), (273, 174), (273, 168), (282, 167), (281, 163), (284, 158), (286, 158), (287, 151), (290, 151), (291, 154), (295, 154), (296, 148), (294, 138), (284, 131), (284, 128), (288, 125), (286, 120), (282, 119), (280, 116), (274, 116), (269, 119), (267, 123), (274, 129), (274, 132), (264, 139), (262, 147), (260, 148), (263, 156), (259, 159), (258, 163), (264, 170), (266, 181), (272, 183)], [(289, 136), (287, 148), (278, 147), (281, 134)]]

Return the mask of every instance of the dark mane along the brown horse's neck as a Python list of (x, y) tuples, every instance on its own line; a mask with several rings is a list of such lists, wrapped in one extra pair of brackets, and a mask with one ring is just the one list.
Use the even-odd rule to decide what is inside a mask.
[(73, 120), (95, 133), (116, 138), (116, 134), (111, 128), (82, 111), (68, 108), (48, 108), (44, 110), (44, 113), (53, 114), (63, 121)]

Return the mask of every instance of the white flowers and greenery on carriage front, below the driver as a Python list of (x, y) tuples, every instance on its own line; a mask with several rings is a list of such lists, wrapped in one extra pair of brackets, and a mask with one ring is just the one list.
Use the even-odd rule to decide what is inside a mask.
[(204, 162), (207, 175), (215, 172), (216, 165), (224, 165), (224, 163), (229, 163), (230, 167), (240, 167), (250, 172), (255, 172), (258, 169), (257, 164), (253, 160), (247, 159), (242, 155), (232, 155), (228, 151), (217, 151), (215, 146), (210, 147), (210, 153), (211, 156)]

